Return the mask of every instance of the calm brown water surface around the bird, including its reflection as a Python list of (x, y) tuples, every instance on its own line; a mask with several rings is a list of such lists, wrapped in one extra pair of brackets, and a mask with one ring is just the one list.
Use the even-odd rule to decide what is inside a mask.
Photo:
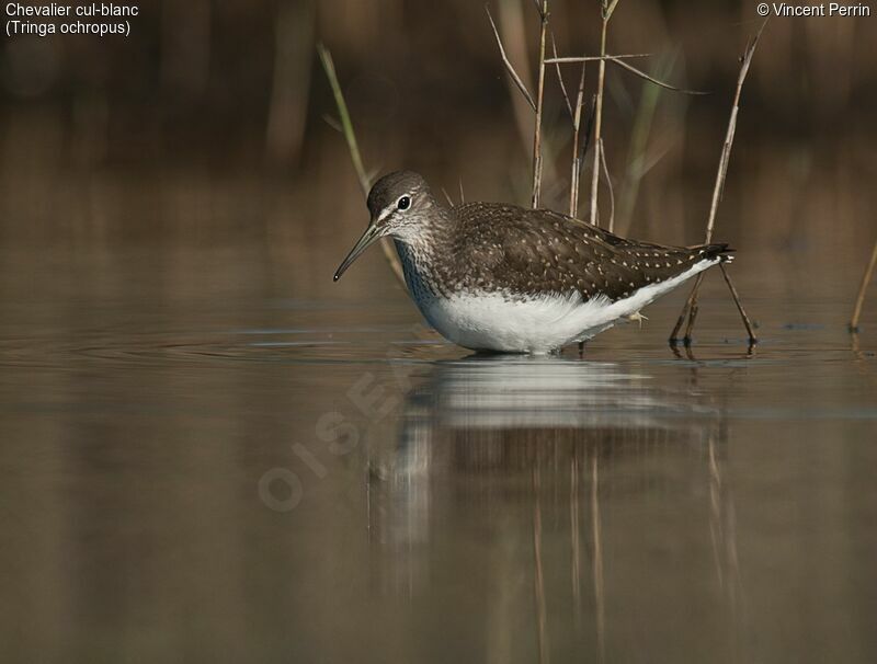
[(714, 279), (691, 356), (676, 294), (583, 359), (475, 357), (391, 286), (39, 255), (0, 302), (4, 661), (877, 657), (845, 301), (750, 298), (750, 354)]

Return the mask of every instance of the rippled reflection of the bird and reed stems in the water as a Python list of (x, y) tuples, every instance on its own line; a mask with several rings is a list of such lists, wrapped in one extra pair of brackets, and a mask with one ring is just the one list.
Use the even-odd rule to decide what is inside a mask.
[(513, 646), (510, 627), (521, 610), (532, 611), (539, 660), (569, 639), (569, 630), (553, 633), (548, 619), (558, 592), (579, 638), (602, 659), (612, 593), (604, 511), (698, 492), (726, 584), (733, 541), (724, 523), (721, 409), (708, 396), (654, 382), (641, 370), (563, 356), (434, 365), (407, 394), (396, 435), (368, 446), (380, 588), (413, 596), (441, 583), (435, 568), (467, 564), (469, 529), (480, 528), (474, 546), (496, 576), (486, 611), (490, 659), (503, 661)]

